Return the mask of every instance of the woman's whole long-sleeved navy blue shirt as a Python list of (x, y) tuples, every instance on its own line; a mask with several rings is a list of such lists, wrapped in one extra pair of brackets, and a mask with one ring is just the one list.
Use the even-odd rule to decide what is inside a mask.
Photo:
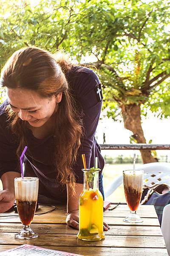
[[(99, 79), (93, 70), (85, 67), (72, 67), (66, 73), (70, 92), (77, 104), (78, 113), (82, 114), (84, 135), (78, 150), (77, 162), (73, 166), (77, 183), (83, 183), (82, 154), (85, 154), (87, 168), (93, 167), (95, 157), (98, 157), (98, 167), (103, 169), (104, 159), (100, 153), (100, 146), (96, 142), (95, 133), (99, 121), (102, 101), (96, 93), (96, 81)], [(0, 176), (5, 172), (20, 172), (19, 160), (16, 155), (18, 138), (12, 134), (5, 108), (8, 102), (0, 105)], [(57, 135), (59, 136), (59, 134)], [(44, 139), (37, 139), (28, 128), (25, 130), (25, 140), (28, 149), (25, 159), (25, 176), (39, 177), (39, 194), (65, 201), (66, 189), (56, 181), (56, 170), (53, 166), (53, 151), (55, 147), (54, 135)], [(99, 175), (99, 183), (101, 173)]]

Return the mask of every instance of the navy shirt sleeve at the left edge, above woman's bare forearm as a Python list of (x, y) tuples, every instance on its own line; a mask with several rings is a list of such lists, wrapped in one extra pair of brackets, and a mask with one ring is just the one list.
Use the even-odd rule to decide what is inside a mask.
[(17, 145), (10, 129), (3, 124), (7, 121), (0, 116), (0, 177), (6, 172), (20, 172)]

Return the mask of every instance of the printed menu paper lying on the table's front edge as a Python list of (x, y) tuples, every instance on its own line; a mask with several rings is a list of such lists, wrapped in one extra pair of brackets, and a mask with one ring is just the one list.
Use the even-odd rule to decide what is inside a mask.
[(0, 256), (80, 256), (80, 254), (66, 253), (58, 250), (51, 250), (42, 247), (37, 247), (30, 244), (23, 244), (10, 250), (0, 253)]

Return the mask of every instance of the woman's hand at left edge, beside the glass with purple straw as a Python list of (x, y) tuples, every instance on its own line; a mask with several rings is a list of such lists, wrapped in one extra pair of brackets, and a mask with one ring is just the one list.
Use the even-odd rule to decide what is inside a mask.
[(9, 189), (4, 189), (0, 191), (0, 213), (6, 212), (10, 209), (15, 201), (14, 192)]

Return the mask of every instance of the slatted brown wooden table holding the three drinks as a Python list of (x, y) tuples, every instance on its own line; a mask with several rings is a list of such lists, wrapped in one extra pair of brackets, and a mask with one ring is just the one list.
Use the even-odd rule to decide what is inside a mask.
[[(49, 207), (40, 206), (36, 213), (47, 210)], [(28, 243), (81, 255), (167, 256), (167, 249), (154, 207), (140, 206), (138, 214), (144, 221), (136, 225), (123, 221), (128, 213), (127, 205), (119, 205), (113, 211), (106, 210), (104, 220), (111, 229), (105, 232), (105, 240), (91, 242), (77, 239), (77, 230), (65, 224), (66, 211), (63, 206), (57, 207), (51, 213), (34, 216), (31, 227), (39, 233), (39, 237), (29, 241), (14, 239), (14, 233), (20, 231), (22, 227), (17, 214), (14, 212), (1, 213), (0, 251)], [(5, 215), (6, 217), (2, 217)]]

